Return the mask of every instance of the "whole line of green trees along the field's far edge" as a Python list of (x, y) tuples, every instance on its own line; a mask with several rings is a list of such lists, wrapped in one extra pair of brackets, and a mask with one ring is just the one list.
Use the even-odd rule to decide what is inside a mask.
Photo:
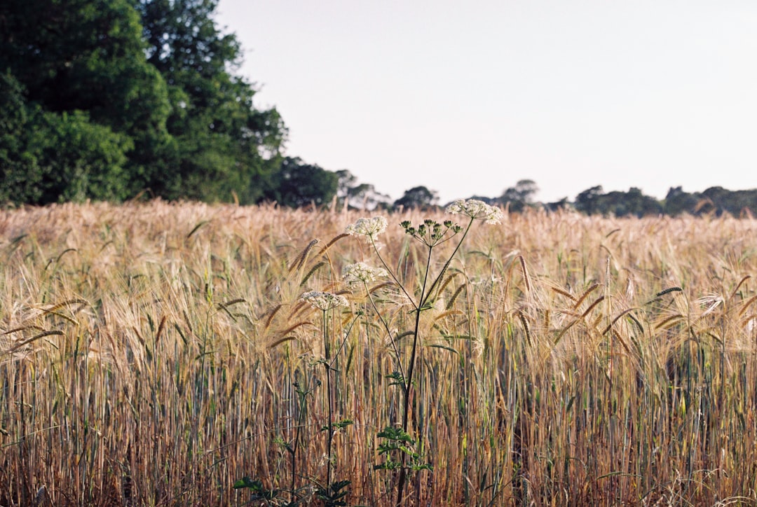
[[(348, 170), (285, 155), (276, 108), (254, 104), (235, 72), (241, 45), (213, 19), (218, 0), (5, 0), (0, 5), (0, 203), (276, 201), (301, 207), (438, 205), (410, 188), (396, 201)], [(581, 192), (534, 203), (528, 179), (497, 198), (511, 211), (543, 205), (616, 216), (755, 213), (757, 191), (671, 188)], [(473, 196), (476, 197), (476, 196)]]

